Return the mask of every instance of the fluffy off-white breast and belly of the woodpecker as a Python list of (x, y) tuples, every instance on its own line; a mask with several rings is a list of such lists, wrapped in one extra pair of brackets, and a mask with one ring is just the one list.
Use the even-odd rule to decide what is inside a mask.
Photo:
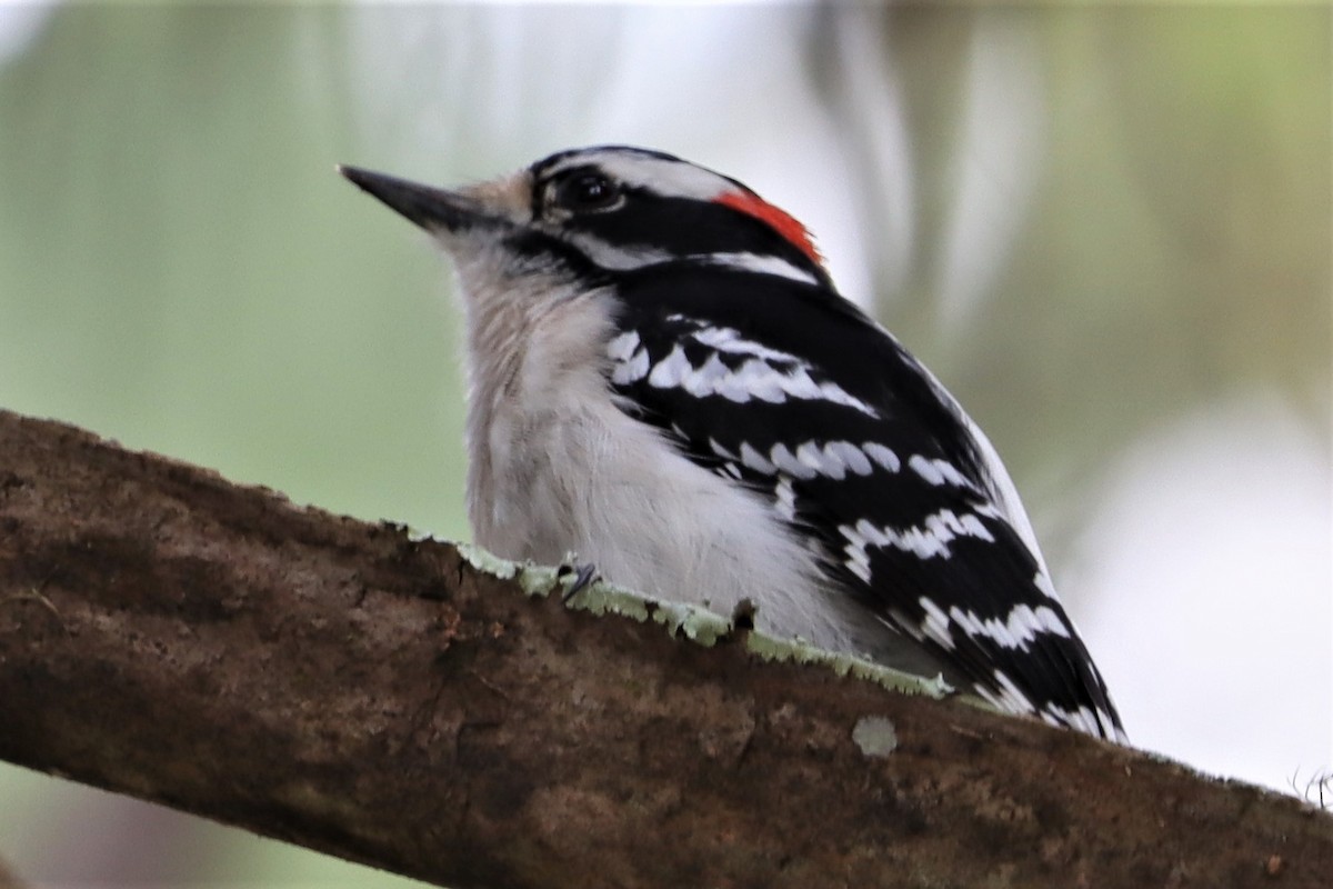
[[(468, 316), (468, 514), (507, 558), (569, 553), (615, 584), (921, 674), (940, 665), (832, 584), (780, 498), (722, 478), (621, 411), (612, 297), (461, 261)], [(503, 284), (501, 284), (503, 281)]]

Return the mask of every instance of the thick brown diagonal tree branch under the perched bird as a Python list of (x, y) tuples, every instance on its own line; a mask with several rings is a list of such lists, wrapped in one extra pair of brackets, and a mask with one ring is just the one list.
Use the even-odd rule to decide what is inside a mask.
[(0, 757), (457, 889), (1330, 885), (1298, 800), (552, 581), (0, 412)]

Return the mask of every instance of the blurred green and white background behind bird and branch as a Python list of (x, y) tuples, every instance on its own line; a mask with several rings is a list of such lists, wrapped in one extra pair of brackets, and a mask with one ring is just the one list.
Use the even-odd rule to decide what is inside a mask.
[[(1330, 35), (1321, 5), (0, 5), (0, 407), (465, 538), (448, 267), (333, 164), (670, 151), (804, 219), (988, 431), (1133, 740), (1300, 782), (1333, 765)], [(0, 857), (395, 882), (9, 768)]]

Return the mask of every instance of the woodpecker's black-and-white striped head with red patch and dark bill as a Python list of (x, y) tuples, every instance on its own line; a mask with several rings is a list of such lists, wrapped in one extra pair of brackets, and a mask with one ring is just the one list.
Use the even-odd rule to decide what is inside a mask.
[(356, 167), (339, 171), (491, 275), (563, 269), (607, 279), (663, 263), (766, 272), (826, 285), (805, 228), (734, 179), (663, 152), (564, 151), (517, 173), (440, 189)]

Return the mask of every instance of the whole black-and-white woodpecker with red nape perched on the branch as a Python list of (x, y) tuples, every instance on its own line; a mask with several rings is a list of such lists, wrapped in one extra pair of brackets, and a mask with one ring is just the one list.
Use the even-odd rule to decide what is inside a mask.
[(480, 545), (1125, 740), (990, 443), (794, 219), (640, 148), (340, 171), (457, 267)]

